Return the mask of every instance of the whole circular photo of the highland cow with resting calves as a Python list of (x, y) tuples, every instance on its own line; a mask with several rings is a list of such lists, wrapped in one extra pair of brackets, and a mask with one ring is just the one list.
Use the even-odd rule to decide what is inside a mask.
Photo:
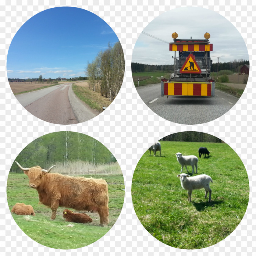
[(92, 244), (112, 228), (125, 186), (116, 158), (103, 144), (67, 131), (39, 137), (20, 152), (6, 194), (12, 217), (27, 236), (67, 250)]

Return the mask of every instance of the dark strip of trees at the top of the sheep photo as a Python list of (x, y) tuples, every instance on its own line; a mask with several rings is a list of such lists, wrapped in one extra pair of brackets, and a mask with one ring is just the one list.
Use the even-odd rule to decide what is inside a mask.
[(202, 132), (179, 132), (179, 133), (173, 133), (170, 134), (162, 140), (165, 141), (187, 141), (187, 142), (214, 142), (214, 143), (223, 143), (223, 140), (208, 134), (208, 133), (202, 133)]

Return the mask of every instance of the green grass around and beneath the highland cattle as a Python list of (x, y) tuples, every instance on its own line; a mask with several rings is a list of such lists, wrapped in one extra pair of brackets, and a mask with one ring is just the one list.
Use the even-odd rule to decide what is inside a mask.
[[(94, 176), (94, 178), (101, 178), (101, 176)], [(65, 209), (63, 207), (58, 208), (56, 219), (50, 220), (51, 209), (39, 203), (37, 191), (28, 186), (28, 177), (23, 173), (9, 173), (7, 180), (9, 209), (11, 211), (16, 203), (32, 205), (35, 216), (12, 213), (12, 217), (23, 232), (39, 244), (56, 249), (84, 247), (99, 240), (111, 229), (123, 207), (125, 193), (123, 175), (105, 175), (103, 179), (108, 183), (108, 226), (99, 226), (98, 213), (89, 212), (87, 214), (93, 219), (91, 223), (66, 222), (62, 217), (62, 212)]]

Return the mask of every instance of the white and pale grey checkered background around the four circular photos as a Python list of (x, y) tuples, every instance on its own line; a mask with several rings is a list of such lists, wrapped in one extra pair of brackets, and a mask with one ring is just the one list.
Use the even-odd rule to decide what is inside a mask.
[[(252, 255), (256, 252), (255, 221), (255, 35), (256, 8), (253, 1), (32, 1), (4, 0), (0, 3), (1, 41), (1, 174), (0, 252), (5, 255)], [(225, 16), (240, 32), (247, 45), (250, 75), (244, 94), (224, 116), (205, 124), (175, 124), (152, 112), (140, 99), (132, 82), (131, 59), (142, 30), (155, 17), (173, 8), (198, 6)], [(231, 5), (230, 5), (231, 4)], [(101, 17), (116, 32), (122, 44), (126, 70), (122, 88), (114, 102), (94, 119), (76, 125), (44, 122), (25, 110), (8, 84), (6, 59), (16, 31), (33, 15), (48, 8), (73, 6)], [(208, 21), (210, 22), (210, 21)], [(173, 31), (170, 31), (170, 34)], [(254, 82), (254, 84), (253, 84)], [(163, 109), (164, 111), (164, 109)], [(6, 181), (12, 162), (34, 139), (51, 132), (75, 131), (103, 143), (116, 157), (123, 171), (126, 192), (122, 212), (112, 229), (97, 242), (75, 250), (45, 247), (28, 237), (13, 220), (6, 199)], [(254, 128), (255, 130), (255, 128)], [(140, 224), (131, 198), (131, 181), (137, 162), (151, 144), (170, 133), (200, 131), (224, 140), (242, 159), (250, 182), (247, 212), (240, 225), (226, 239), (199, 250), (181, 250), (162, 244)], [(225, 189), (225, 188), (224, 188)], [(193, 239), (193, 237), (188, 237)], [(253, 243), (254, 242), (254, 243)]]

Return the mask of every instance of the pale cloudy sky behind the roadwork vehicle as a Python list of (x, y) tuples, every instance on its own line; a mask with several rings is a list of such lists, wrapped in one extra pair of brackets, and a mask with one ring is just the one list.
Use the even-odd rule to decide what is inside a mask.
[[(172, 33), (178, 38), (204, 39), (204, 33), (210, 33), (213, 44), (210, 52), (213, 63), (233, 60), (249, 60), (243, 37), (233, 24), (218, 12), (201, 7), (181, 7), (164, 12), (152, 20), (143, 30), (152, 36), (167, 42), (173, 42)], [(165, 65), (173, 64), (174, 52), (169, 44), (140, 34), (132, 55), (132, 62)]]

